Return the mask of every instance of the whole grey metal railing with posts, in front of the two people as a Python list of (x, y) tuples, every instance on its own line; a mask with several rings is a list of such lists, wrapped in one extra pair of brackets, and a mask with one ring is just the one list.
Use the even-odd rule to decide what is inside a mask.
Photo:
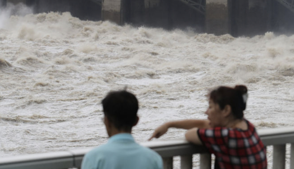
[[(294, 127), (258, 130), (265, 146), (273, 145), (273, 168), (285, 168), (286, 144), (290, 148), (290, 169), (294, 169)], [(293, 144), (292, 144), (293, 143)], [(158, 152), (164, 168), (173, 167), (173, 157), (180, 156), (180, 168), (191, 169), (193, 154), (200, 154), (200, 168), (211, 167), (211, 156), (203, 146), (195, 146), (184, 139), (142, 143)], [(65, 169), (81, 167), (83, 156), (92, 148), (0, 158), (1, 169)]]

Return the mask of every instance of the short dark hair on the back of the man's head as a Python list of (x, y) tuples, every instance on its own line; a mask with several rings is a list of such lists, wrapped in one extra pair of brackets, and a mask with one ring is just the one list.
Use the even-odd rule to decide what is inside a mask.
[(126, 90), (109, 92), (102, 100), (104, 115), (118, 130), (131, 131), (139, 109), (136, 96)]

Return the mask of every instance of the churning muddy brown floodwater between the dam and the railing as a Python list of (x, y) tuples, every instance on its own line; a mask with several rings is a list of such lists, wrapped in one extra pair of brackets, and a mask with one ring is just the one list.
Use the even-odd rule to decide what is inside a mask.
[[(138, 142), (165, 121), (206, 118), (205, 94), (219, 85), (248, 87), (245, 117), (256, 127), (292, 125), (294, 36), (0, 14), (0, 157), (105, 143), (101, 99), (125, 86), (140, 102)], [(183, 134), (171, 129), (162, 139)]]

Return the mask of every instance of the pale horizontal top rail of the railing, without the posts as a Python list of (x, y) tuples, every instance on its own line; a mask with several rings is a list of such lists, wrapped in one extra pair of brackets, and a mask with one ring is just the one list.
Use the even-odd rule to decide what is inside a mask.
[[(294, 143), (294, 127), (260, 129), (258, 132), (266, 146)], [(192, 145), (185, 139), (161, 140), (140, 144), (157, 151), (162, 157), (206, 152), (203, 146)], [(92, 148), (93, 147), (60, 152), (1, 157), (0, 168), (26, 169), (37, 168), (37, 166), (40, 168), (40, 166), (42, 166), (41, 168), (44, 169), (47, 167), (60, 169), (73, 166), (80, 167), (83, 156)], [(54, 163), (54, 167), (50, 165), (52, 163)]]

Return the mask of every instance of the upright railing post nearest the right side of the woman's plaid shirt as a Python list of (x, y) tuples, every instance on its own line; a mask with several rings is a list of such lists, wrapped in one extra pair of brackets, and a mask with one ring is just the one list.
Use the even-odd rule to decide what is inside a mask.
[(273, 168), (285, 169), (286, 145), (274, 145)]

